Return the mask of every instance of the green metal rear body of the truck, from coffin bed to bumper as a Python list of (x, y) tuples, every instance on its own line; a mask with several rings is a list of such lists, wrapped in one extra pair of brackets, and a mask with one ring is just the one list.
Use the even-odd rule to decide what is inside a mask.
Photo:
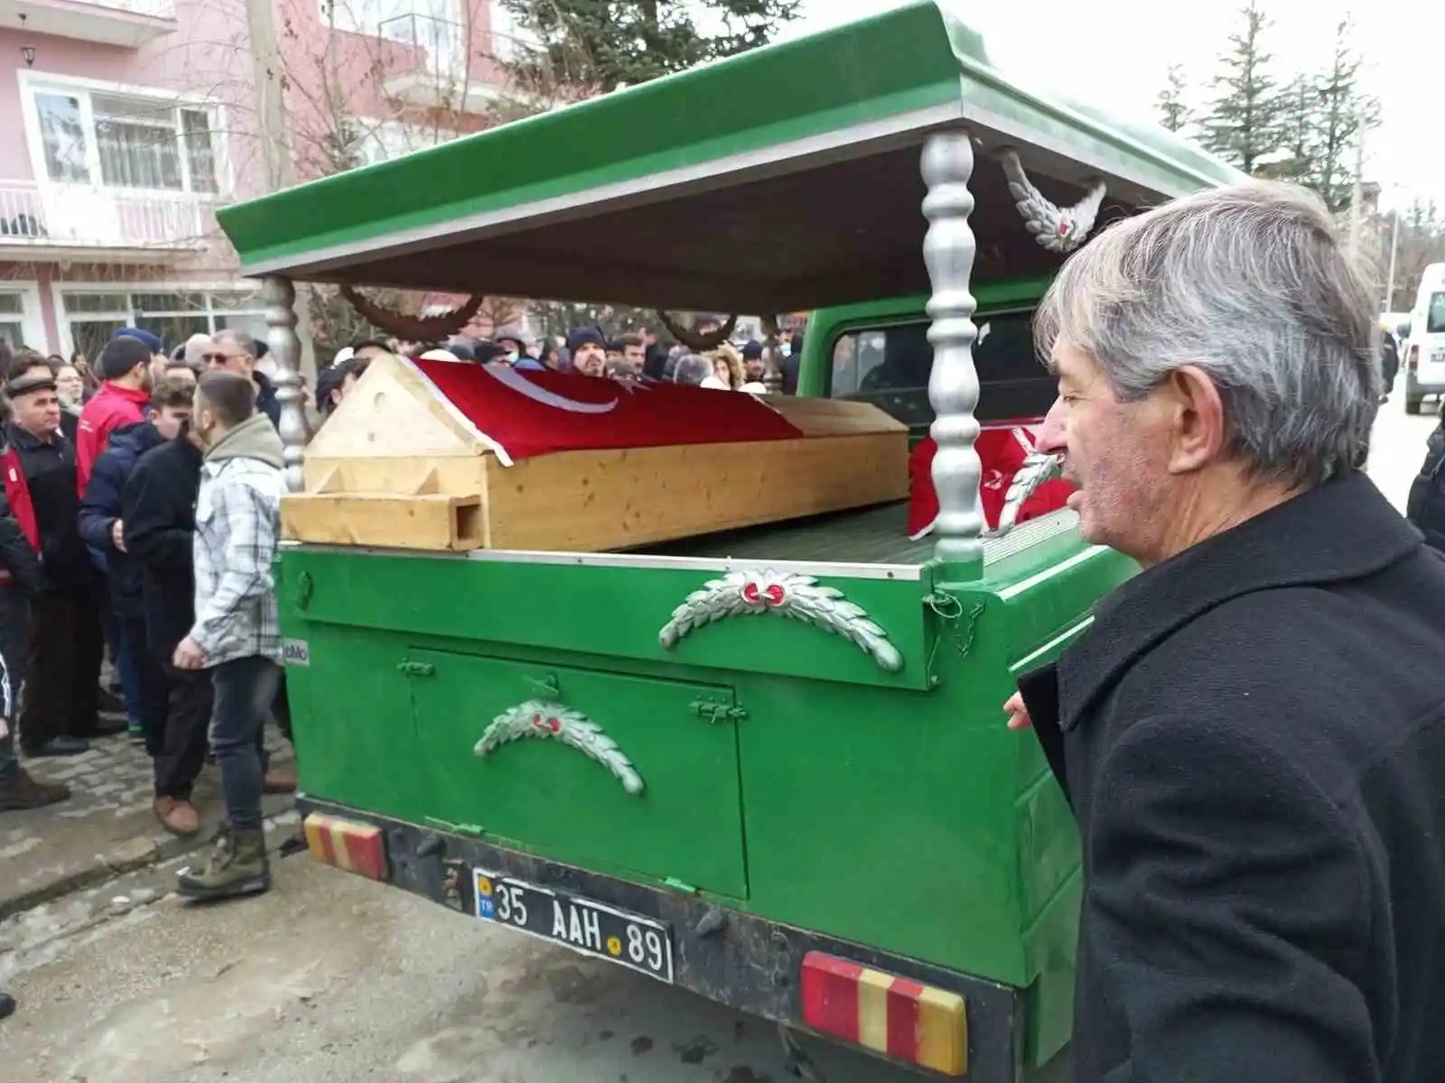
[[(283, 631), (309, 645), (309, 664), (290, 670), (302, 784), (608, 875), (682, 881), (775, 921), (1027, 988), (1030, 1047), (1052, 1051), (1066, 1034), (1077, 842), (1036, 742), (1003, 726), (1000, 705), (1012, 667), (1058, 638), (1045, 598), (1075, 598), (1062, 622), (1078, 625), (1117, 567), (1077, 565), (1092, 589), (1068, 572), (1048, 591), (1027, 588), (1040, 565), (1092, 550), (1071, 539), (1049, 552), (954, 589), (962, 612), (983, 605), (971, 625), (923, 609), (938, 684), (922, 690), (803, 674), (831, 637), (802, 625), (790, 673), (722, 664), (712, 651), (669, 661), (601, 653), (673, 569), (496, 563), (553, 579), (530, 580), (535, 604), (504, 619), (514, 599), (487, 570), (494, 562), (290, 549)], [(607, 619), (587, 604), (588, 579), (610, 582)], [(915, 605), (941, 589), (928, 578), (871, 585)], [(568, 619), (548, 619), (551, 606)], [(529, 641), (501, 641), (523, 638), (519, 617)], [(756, 657), (749, 637), (788, 627), (770, 621), (736, 622), (736, 657)], [(858, 654), (850, 664), (867, 661)], [(549, 739), (474, 754), (499, 713), (549, 683), (629, 755), (640, 799)], [(709, 723), (692, 709), (702, 696), (747, 715)]]

